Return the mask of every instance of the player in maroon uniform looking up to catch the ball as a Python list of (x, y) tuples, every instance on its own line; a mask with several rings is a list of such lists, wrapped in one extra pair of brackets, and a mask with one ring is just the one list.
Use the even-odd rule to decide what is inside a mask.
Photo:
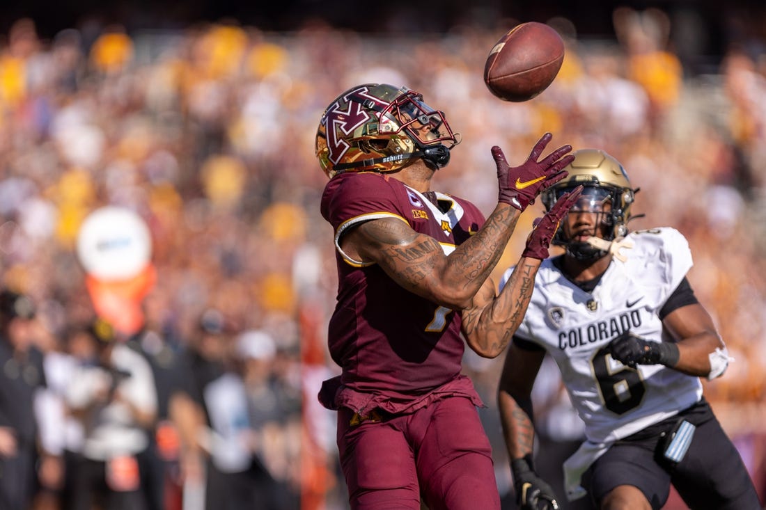
[[(459, 136), (407, 87), (346, 90), (319, 123), (316, 154), (330, 181), (322, 215), (335, 232), (339, 288), (329, 351), (342, 374), (319, 400), (338, 410), (339, 456), (352, 508), (499, 508), (489, 440), (460, 374), (464, 342), (499, 355), (575, 190), (541, 218), (502, 293), (489, 278), (524, 209), (565, 177), (571, 146), (510, 167), (493, 147), (498, 204), (485, 219), (432, 191)], [(461, 336), (462, 334), (462, 336)], [(463, 340), (465, 338), (465, 340)]]

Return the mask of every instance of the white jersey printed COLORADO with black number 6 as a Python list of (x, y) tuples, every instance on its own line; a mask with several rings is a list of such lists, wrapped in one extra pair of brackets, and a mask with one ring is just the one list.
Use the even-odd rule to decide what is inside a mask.
[[(628, 368), (606, 347), (627, 329), (672, 342), (657, 315), (692, 267), (689, 244), (669, 227), (638, 230), (624, 241), (592, 293), (544, 260), (516, 335), (541, 345), (558, 364), (593, 443), (609, 443), (677, 414), (702, 396), (699, 378), (663, 365)], [(502, 277), (502, 285), (512, 268)]]

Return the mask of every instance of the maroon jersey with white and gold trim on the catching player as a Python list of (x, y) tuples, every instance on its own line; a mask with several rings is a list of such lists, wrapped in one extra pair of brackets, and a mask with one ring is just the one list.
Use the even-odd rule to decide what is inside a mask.
[(337, 175), (326, 185), (322, 216), (335, 230), (339, 275), (329, 351), (342, 368), (339, 391), (329, 399), (320, 396), (328, 407), (399, 412), (442, 392), (466, 394), (480, 404), (473, 385), (460, 376), (460, 315), (403, 289), (377, 264), (352, 260), (340, 248), (349, 227), (394, 217), (451, 253), (479, 230), (484, 216), (461, 198), (435, 196), (438, 205), (375, 172)]

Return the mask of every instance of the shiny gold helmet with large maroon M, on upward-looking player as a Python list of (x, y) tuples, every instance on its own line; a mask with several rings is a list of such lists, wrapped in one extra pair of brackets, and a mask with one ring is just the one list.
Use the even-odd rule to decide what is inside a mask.
[[(437, 169), (460, 142), (444, 113), (407, 87), (366, 83), (330, 103), (316, 131), (316, 157), (329, 178), (341, 172), (394, 172), (422, 158)], [(447, 145), (444, 145), (447, 144)]]

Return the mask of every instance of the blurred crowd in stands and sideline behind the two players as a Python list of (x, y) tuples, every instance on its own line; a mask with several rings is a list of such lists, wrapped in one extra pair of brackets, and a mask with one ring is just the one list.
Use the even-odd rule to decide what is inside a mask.
[[(552, 19), (567, 44), (560, 74), (535, 100), (503, 103), (483, 64), (516, 22), (396, 37), (320, 22), (289, 34), (233, 21), (140, 33), (91, 24), (41, 40), (23, 18), (0, 34), (0, 457), (39, 453), (37, 489), (0, 472), (18, 501), (346, 508), (335, 416), (316, 403), (319, 381), (339, 370), (325, 348), (336, 271), (313, 146), (329, 101), (367, 82), (407, 85), (444, 110), (463, 142), (435, 188), (486, 213), (492, 145), (521, 161), (550, 131), (556, 146), (624, 163), (640, 187), (633, 211), (645, 214), (630, 227), (689, 238), (692, 286), (735, 358), (705, 393), (763, 498), (764, 42), (732, 44), (714, 72), (689, 74), (662, 11), (617, 9), (614, 39), (583, 40)], [(156, 282), (134, 335), (99, 320), (77, 260), (83, 219), (107, 204), (136, 211), (152, 234)], [(540, 211), (519, 221), (499, 272)], [(465, 366), (507, 492), (502, 359), (466, 353)], [(581, 435), (556, 377), (538, 389), (541, 440), (554, 445)], [(38, 436), (14, 417), (34, 420)]]

